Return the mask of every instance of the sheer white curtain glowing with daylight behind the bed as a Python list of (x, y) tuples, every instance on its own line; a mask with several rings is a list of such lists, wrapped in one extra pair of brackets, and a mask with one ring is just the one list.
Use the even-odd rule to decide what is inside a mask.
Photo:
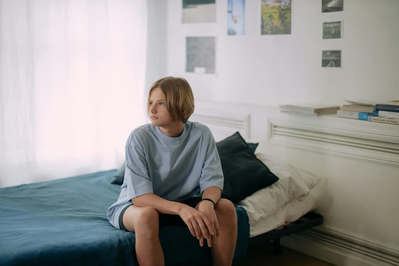
[(146, 40), (145, 0), (0, 0), (0, 187), (121, 166)]

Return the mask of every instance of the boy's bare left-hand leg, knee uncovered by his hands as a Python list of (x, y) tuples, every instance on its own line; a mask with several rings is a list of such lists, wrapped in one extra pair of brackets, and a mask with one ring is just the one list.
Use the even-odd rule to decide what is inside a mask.
[(140, 266), (164, 266), (159, 242), (159, 215), (151, 207), (130, 206), (123, 214), (123, 225), (136, 233), (136, 256)]

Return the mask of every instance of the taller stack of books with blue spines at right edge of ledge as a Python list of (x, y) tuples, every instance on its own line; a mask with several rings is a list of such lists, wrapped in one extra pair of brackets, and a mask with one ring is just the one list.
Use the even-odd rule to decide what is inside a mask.
[(338, 117), (367, 120), (372, 122), (399, 124), (399, 100), (384, 103), (347, 101), (337, 111)]

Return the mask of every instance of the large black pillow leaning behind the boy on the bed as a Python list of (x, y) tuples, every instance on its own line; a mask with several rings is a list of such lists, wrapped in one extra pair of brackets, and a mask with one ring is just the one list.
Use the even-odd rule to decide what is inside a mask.
[(278, 181), (278, 177), (250, 150), (237, 131), (216, 143), (224, 175), (222, 198), (233, 203)]

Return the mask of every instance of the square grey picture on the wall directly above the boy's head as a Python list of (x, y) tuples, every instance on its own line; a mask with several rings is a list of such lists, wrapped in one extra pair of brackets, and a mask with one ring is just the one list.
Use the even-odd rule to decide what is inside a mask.
[(215, 73), (215, 37), (186, 37), (185, 71), (198, 74)]

